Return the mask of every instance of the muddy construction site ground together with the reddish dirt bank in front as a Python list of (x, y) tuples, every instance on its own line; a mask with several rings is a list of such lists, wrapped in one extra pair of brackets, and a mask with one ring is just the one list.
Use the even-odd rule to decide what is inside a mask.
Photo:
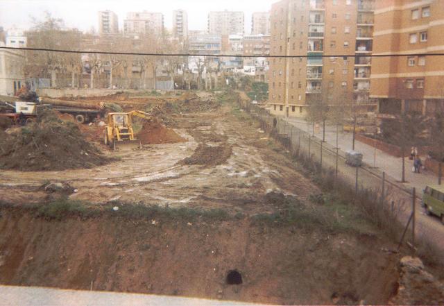
[[(388, 303), (398, 291), (395, 243), (355, 208), (315, 203), (321, 189), (234, 103), (207, 106), (162, 106), (177, 137), (164, 140), (155, 135), (164, 126), (145, 124), (160, 140), (133, 151), (110, 150), (99, 126), (84, 126), (111, 159), (102, 166), (1, 171), (0, 282), (287, 305)], [(99, 213), (24, 210), (57, 198), (42, 188), (48, 182), (71, 187), (63, 201)], [(230, 284), (230, 271), (241, 284)]]

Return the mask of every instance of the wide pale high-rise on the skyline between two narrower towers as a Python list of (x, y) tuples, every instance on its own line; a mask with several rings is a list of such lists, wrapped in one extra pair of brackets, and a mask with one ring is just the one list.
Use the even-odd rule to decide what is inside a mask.
[(212, 35), (244, 35), (244, 12), (210, 12), (208, 14), (208, 33)]

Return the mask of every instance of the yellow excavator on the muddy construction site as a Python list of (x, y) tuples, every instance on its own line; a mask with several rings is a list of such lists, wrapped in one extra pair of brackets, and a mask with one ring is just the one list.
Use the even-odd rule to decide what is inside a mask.
[(135, 137), (133, 130), (133, 117), (154, 119), (153, 115), (141, 110), (132, 112), (110, 112), (107, 115), (107, 125), (103, 132), (103, 142), (116, 149), (142, 148), (142, 143)]

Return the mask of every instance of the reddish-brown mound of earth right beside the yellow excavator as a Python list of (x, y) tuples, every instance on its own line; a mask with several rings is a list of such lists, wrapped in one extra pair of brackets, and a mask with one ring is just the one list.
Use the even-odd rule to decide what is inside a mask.
[(166, 128), (155, 121), (145, 122), (137, 134), (137, 139), (140, 139), (142, 144), (173, 144), (187, 141), (171, 128)]

